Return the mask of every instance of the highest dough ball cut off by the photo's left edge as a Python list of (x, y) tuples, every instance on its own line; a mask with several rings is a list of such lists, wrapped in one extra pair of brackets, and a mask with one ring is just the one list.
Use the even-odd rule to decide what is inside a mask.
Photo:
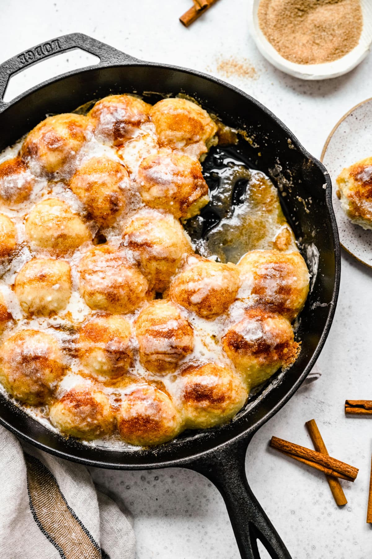
[(0, 163), (0, 200), (5, 204), (20, 204), (30, 196), (35, 177), (20, 157)]

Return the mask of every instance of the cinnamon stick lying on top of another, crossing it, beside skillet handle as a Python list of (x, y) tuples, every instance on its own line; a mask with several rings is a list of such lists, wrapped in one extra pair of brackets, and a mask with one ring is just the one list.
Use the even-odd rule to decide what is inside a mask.
[(288, 440), (279, 439), (278, 437), (271, 438), (270, 446), (281, 451), (288, 452), (289, 454), (293, 454), (294, 456), (305, 458), (309, 462), (313, 462), (317, 465), (329, 468), (330, 470), (334, 470), (336, 473), (342, 473), (342, 475), (349, 477), (350, 481), (354, 481), (357, 473), (359, 472), (358, 468), (350, 466), (345, 462), (341, 462), (336, 458), (326, 456), (321, 452), (312, 451), (310, 448), (302, 447), (299, 444), (290, 443), (288, 442)]

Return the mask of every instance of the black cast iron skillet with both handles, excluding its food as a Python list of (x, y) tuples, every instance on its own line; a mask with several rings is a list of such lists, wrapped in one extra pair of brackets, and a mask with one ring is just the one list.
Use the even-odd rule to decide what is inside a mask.
[[(100, 63), (53, 78), (2, 101), (9, 77), (28, 65), (61, 51), (80, 48)], [(260, 539), (273, 558), (289, 553), (255, 499), (245, 477), (245, 453), (257, 429), (296, 392), (310, 372), (330, 330), (340, 282), (340, 248), (326, 169), (303, 149), (293, 134), (267, 108), (233, 86), (192, 70), (147, 63), (82, 34), (38, 45), (0, 65), (0, 150), (15, 143), (49, 113), (61, 113), (110, 93), (160, 92), (189, 94), (227, 125), (254, 136), (247, 143), (253, 164), (273, 178), (287, 196), (283, 207), (297, 239), (319, 252), (318, 273), (297, 331), (302, 350), (279, 380), (253, 399), (238, 418), (224, 427), (184, 435), (160, 448), (117, 452), (92, 448), (52, 433), (3, 396), (0, 422), (18, 437), (46, 452), (89, 466), (122, 470), (186, 467), (208, 477), (226, 503), (241, 557), (259, 558)], [(310, 260), (308, 259), (310, 264)]]

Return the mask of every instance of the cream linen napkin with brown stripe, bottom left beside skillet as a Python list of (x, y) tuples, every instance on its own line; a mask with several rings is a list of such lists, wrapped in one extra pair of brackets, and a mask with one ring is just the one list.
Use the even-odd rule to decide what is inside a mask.
[(84, 466), (21, 443), (0, 425), (0, 557), (133, 559), (132, 519)]

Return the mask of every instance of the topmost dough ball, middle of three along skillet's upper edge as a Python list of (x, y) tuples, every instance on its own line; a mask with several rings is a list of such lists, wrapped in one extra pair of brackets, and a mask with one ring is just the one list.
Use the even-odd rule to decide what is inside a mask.
[(109, 95), (89, 111), (95, 121), (95, 136), (104, 143), (121, 145), (133, 138), (139, 127), (149, 121), (151, 105), (132, 95)]

